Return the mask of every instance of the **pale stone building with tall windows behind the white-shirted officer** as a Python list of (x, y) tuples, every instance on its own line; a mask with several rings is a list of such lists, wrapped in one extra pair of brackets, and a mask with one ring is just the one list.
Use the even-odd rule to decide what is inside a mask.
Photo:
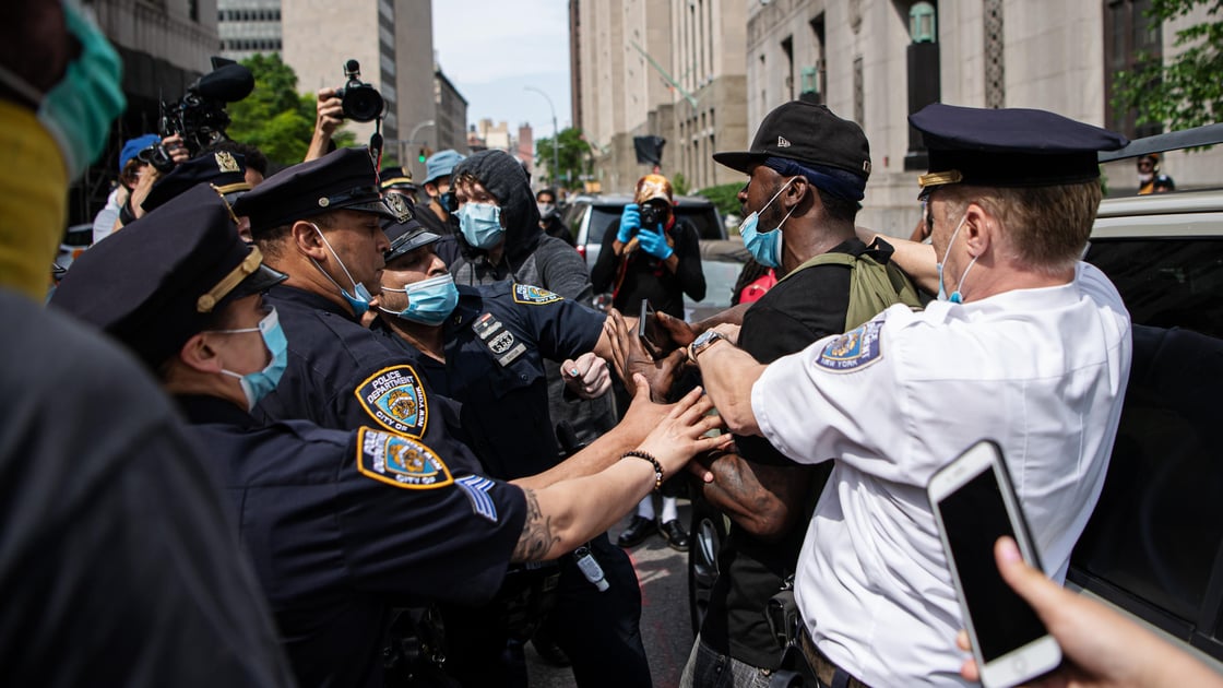
[[(932, 102), (1040, 108), (1142, 136), (1113, 113), (1117, 71), (1139, 50), (1172, 56), (1174, 33), (1205, 10), (1141, 31), (1137, 0), (1101, 2), (931, 2), (925, 0), (753, 1), (747, 11), (747, 119), (795, 98), (826, 103), (857, 121), (873, 169), (859, 223), (907, 236), (918, 219), (917, 174), (926, 157), (907, 115)], [(1137, 27), (1137, 28), (1136, 28)], [(1106, 47), (1107, 54), (1106, 62)], [(1218, 184), (1219, 153), (1174, 153), (1178, 186)], [(1132, 193), (1134, 163), (1106, 166), (1113, 193)]]

